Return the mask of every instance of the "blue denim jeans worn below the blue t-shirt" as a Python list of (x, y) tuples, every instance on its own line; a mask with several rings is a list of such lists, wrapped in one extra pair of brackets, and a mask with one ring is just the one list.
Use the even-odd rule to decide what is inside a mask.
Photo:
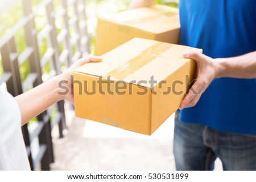
[(204, 125), (181, 122), (178, 118), (176, 112), (176, 170), (213, 170), (217, 157), (224, 170), (256, 170), (256, 135), (219, 132)]

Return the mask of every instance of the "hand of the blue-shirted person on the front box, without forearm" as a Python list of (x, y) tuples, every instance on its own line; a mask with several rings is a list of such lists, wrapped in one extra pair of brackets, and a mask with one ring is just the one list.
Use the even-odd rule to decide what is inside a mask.
[(195, 106), (209, 84), (217, 78), (219, 70), (218, 59), (210, 58), (199, 52), (184, 53), (183, 56), (196, 61), (197, 78), (181, 102), (180, 109)]

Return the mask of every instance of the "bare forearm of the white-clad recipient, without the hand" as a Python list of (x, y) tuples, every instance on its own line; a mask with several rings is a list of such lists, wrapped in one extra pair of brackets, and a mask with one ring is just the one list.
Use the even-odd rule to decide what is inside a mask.
[(61, 100), (61, 96), (58, 94), (59, 77), (60, 75), (15, 97), (20, 108), (22, 125)]

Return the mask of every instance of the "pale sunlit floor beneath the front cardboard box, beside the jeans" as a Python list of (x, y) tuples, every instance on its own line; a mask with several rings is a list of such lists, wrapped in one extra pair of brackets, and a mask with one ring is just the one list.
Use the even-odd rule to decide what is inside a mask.
[[(175, 170), (172, 115), (154, 134), (144, 136), (67, 112), (68, 131), (59, 139), (53, 130), (52, 170)], [(216, 170), (221, 170), (216, 160)]]

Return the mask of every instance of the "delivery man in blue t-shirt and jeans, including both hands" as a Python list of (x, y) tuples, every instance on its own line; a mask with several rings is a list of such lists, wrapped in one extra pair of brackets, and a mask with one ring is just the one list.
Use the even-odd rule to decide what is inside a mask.
[[(133, 0), (130, 9), (154, 0)], [(197, 81), (175, 116), (177, 170), (256, 170), (256, 1), (180, 0), (181, 45)], [(242, 55), (242, 56), (241, 56)]]

